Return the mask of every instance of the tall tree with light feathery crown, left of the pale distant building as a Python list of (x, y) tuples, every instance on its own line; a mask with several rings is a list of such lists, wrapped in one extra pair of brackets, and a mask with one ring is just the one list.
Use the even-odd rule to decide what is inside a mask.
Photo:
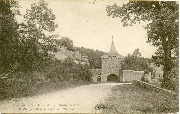
[(38, 67), (39, 63), (49, 59), (48, 52), (56, 49), (54, 39), (58, 35), (50, 35), (57, 27), (54, 22), (55, 15), (48, 8), (48, 4), (40, 0), (38, 3), (31, 4), (31, 9), (27, 9), (24, 18), (26, 22), (19, 28), (24, 46), (21, 50), (22, 68), (25, 71), (36, 70), (35, 66)]

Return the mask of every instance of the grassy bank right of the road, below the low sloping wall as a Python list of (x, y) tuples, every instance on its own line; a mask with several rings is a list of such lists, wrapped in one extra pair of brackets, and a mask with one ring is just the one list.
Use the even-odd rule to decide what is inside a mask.
[(135, 85), (120, 85), (97, 108), (103, 113), (170, 113), (178, 112), (178, 96), (148, 91)]

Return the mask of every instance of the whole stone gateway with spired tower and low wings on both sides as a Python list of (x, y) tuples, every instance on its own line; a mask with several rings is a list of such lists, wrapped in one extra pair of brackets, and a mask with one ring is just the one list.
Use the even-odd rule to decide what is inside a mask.
[(141, 80), (144, 74), (143, 71), (122, 70), (123, 56), (116, 51), (113, 39), (110, 51), (101, 56), (101, 59), (102, 69), (91, 69), (93, 82), (129, 82)]

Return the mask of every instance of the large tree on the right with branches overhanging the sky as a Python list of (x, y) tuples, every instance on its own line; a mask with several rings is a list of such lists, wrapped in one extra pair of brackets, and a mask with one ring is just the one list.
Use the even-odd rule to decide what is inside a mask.
[(175, 1), (130, 1), (123, 6), (107, 6), (109, 16), (121, 18), (124, 26), (136, 22), (148, 22), (148, 43), (158, 47), (156, 60), (164, 66), (162, 87), (171, 88), (170, 73), (174, 67), (174, 55), (177, 56), (179, 42), (179, 7)]

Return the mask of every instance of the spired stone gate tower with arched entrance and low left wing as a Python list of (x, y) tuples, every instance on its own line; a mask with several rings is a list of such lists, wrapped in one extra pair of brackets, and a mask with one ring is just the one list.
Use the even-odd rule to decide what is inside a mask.
[[(101, 56), (102, 69), (91, 69), (94, 82), (122, 82), (121, 63), (123, 56), (118, 54), (112, 39), (110, 51)], [(98, 77), (100, 76), (100, 77)]]

